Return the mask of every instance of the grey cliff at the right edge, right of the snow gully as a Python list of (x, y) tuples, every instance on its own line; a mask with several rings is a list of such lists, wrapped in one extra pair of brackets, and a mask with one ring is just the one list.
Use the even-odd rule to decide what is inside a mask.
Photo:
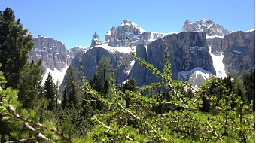
[(227, 74), (249, 70), (255, 66), (255, 30), (253, 32), (233, 32), (223, 38), (223, 63)]

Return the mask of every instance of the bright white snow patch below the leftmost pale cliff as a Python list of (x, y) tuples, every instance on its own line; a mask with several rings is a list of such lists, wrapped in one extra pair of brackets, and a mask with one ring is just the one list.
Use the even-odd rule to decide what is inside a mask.
[(54, 68), (54, 70), (51, 70), (50, 68), (46, 68), (46, 73), (43, 77), (43, 83), (45, 82), (49, 72), (53, 77), (53, 83), (56, 84), (57, 81), (59, 81), (59, 85), (62, 83), (64, 75), (66, 74), (67, 69), (69, 68), (69, 65), (67, 65), (65, 68), (62, 69), (62, 71), (57, 70)]

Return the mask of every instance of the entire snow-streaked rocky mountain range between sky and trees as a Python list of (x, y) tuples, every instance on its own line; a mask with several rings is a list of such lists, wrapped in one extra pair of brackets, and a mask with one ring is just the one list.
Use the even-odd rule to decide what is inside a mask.
[[(72, 65), (78, 70), (81, 61), (85, 76), (90, 79), (99, 60), (107, 56), (114, 68), (126, 60), (115, 73), (117, 84), (130, 78), (136, 78), (138, 85), (158, 81), (151, 71), (133, 60), (126, 36), (130, 37), (136, 55), (160, 71), (163, 71), (163, 43), (167, 42), (172, 78), (190, 81), (194, 86), (200, 85), (197, 79), (202, 81), (212, 75), (225, 76), (235, 71), (241, 74), (242, 69), (248, 70), (255, 65), (255, 31), (230, 33), (212, 20), (198, 20), (195, 23), (186, 20), (181, 33), (146, 32), (133, 21), (123, 20), (117, 28), (111, 27), (103, 42), (94, 33), (90, 47), (70, 50), (66, 50), (61, 41), (39, 35), (34, 39), (29, 60), (37, 62), (42, 59), (44, 78), (51, 71), (53, 79), (62, 81), (66, 68)], [(197, 78), (199, 75), (201, 78)]]

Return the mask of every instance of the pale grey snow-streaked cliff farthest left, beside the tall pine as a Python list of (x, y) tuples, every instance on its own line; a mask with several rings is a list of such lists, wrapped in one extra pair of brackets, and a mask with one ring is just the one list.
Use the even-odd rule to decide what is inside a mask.
[(62, 71), (67, 65), (72, 62), (76, 53), (81, 52), (81, 48), (75, 47), (66, 50), (65, 44), (62, 41), (54, 40), (50, 37), (38, 35), (33, 39), (34, 47), (29, 51), (29, 61), (38, 62), (42, 60), (41, 68), (46, 71), (46, 68)]

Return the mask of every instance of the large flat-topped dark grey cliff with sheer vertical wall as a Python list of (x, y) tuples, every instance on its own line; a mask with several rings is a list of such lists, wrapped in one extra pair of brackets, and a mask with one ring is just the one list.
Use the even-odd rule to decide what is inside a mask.
[[(148, 44), (147, 48), (143, 47), (143, 45), (137, 46), (137, 48), (139, 48), (136, 54), (154, 65), (160, 71), (163, 71), (164, 42), (166, 42), (168, 46), (167, 52), (169, 53), (169, 62), (172, 66), (173, 79), (178, 80), (178, 71), (189, 71), (196, 67), (203, 68), (215, 74), (215, 69), (212, 65), (212, 57), (209, 54), (209, 48), (206, 47), (205, 32), (181, 32), (167, 35), (164, 38), (157, 39), (151, 44)], [(139, 67), (137, 63), (133, 66), (130, 78), (139, 79), (137, 81), (138, 85), (160, 81), (151, 71)]]

